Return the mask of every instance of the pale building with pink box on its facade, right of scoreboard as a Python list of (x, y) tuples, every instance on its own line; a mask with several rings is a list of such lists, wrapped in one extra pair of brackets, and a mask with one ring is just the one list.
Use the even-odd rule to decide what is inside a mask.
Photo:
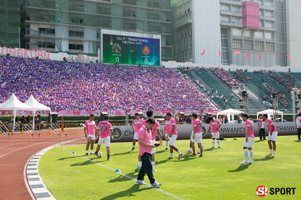
[[(291, 10), (295, 2), (301, 3), (297, 0), (174, 0), (177, 61), (266, 67), (290, 65), (293, 58), (288, 59), (286, 33), (292, 31), (286, 30), (287, 1)], [(296, 14), (289, 12), (292, 20)], [(295, 20), (290, 23), (297, 24)], [(290, 34), (291, 38), (296, 39), (296, 34)], [(297, 44), (290, 43), (297, 48)]]

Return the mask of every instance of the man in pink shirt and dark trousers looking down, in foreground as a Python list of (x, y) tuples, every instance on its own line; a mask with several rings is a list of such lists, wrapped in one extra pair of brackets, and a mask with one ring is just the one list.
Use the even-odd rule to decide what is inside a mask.
[(153, 128), (155, 123), (155, 119), (148, 118), (146, 124), (138, 130), (139, 155), (141, 157), (142, 166), (138, 173), (136, 184), (146, 184), (144, 182), (144, 175), (146, 173), (152, 187), (159, 187), (161, 183), (155, 180), (152, 166), (152, 148), (156, 146), (152, 142), (152, 132), (150, 129)]

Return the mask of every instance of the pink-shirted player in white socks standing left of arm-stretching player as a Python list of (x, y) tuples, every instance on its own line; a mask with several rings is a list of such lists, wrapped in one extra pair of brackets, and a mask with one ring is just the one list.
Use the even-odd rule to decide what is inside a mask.
[[(254, 143), (254, 128), (252, 121), (249, 120), (248, 114), (241, 115), (242, 120), (245, 122), (245, 140), (243, 143), (243, 152), (245, 159), (240, 164), (252, 164), (253, 163), (253, 143)], [(248, 161), (248, 149), (250, 152), (250, 160)]]

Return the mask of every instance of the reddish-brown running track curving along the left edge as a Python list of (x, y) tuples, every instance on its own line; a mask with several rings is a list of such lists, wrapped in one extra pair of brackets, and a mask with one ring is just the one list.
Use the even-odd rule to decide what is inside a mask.
[[(24, 180), (24, 167), (30, 157), (50, 145), (60, 143), (62, 139), (56, 134), (43, 134), (41, 138), (31, 138), (31, 134), (0, 134), (0, 199), (27, 200), (33, 199)], [(65, 135), (64, 135), (65, 136)], [(38, 137), (34, 135), (34, 137)], [(62, 137), (62, 135), (61, 135)], [(83, 134), (67, 135), (66, 140), (84, 137)], [(67, 144), (86, 143), (80, 139)], [(27, 177), (26, 177), (27, 181)], [(28, 182), (27, 182), (28, 183)]]

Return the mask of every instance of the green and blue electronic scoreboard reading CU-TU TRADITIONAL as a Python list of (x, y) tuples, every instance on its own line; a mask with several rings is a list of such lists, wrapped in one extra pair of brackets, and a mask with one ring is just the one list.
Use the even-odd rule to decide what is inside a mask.
[(105, 63), (160, 66), (160, 39), (123, 35), (102, 35)]

